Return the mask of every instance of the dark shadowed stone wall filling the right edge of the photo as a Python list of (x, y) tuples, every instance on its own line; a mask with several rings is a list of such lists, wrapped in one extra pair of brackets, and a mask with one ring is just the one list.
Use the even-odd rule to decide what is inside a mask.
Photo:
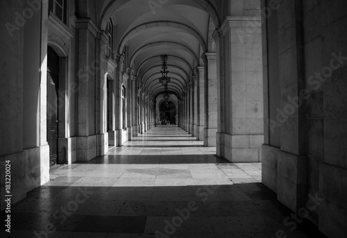
[(329, 237), (347, 235), (346, 9), (346, 1), (280, 1), (262, 26), (262, 182), (294, 212), (316, 198), (307, 219)]

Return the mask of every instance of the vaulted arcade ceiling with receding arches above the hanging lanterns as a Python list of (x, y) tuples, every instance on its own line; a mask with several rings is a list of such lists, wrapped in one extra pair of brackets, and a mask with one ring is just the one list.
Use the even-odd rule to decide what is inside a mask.
[(95, 8), (99, 27), (112, 19), (117, 53), (126, 46), (127, 67), (154, 97), (164, 92), (160, 56), (169, 56), (169, 91), (181, 96), (201, 54), (214, 50), (212, 32), (221, 24), (214, 0), (104, 0)]

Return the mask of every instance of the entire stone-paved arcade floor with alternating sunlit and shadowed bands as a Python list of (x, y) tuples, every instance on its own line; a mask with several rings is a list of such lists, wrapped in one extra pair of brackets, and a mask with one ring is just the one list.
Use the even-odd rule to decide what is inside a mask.
[(194, 139), (161, 126), (54, 171), (12, 205), (10, 237), (317, 237), (284, 225), (291, 212), (260, 183), (260, 163), (229, 163)]

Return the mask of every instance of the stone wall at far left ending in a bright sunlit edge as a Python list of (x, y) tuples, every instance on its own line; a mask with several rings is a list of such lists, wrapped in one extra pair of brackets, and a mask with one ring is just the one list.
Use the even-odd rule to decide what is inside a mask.
[[(46, 5), (28, 6), (26, 1), (1, 1), (1, 118), (0, 170), (6, 161), (11, 167), (12, 203), (49, 181), (49, 147), (46, 143), (46, 71), (40, 41), (45, 39), (40, 27)], [(44, 51), (43, 51), (44, 53)], [(41, 128), (43, 128), (41, 130)], [(5, 176), (0, 179), (4, 197)], [(3, 210), (1, 201), (0, 210)]]

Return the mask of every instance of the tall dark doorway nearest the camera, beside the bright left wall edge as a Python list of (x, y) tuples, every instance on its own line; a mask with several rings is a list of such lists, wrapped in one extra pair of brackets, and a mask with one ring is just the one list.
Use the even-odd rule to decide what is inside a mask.
[(47, 141), (50, 167), (58, 164), (58, 90), (59, 56), (48, 47), (47, 51)]

